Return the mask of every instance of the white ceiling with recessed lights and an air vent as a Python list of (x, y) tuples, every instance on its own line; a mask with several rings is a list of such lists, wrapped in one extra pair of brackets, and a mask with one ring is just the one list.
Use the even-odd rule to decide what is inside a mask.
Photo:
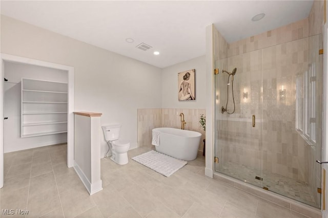
[[(205, 54), (206, 27), (228, 42), (309, 16), (312, 1), (1, 1), (1, 14), (159, 68)], [(251, 18), (259, 13), (259, 21)], [(134, 42), (126, 42), (126, 38)], [(144, 42), (152, 48), (137, 49)], [(160, 54), (155, 56), (154, 51)]]

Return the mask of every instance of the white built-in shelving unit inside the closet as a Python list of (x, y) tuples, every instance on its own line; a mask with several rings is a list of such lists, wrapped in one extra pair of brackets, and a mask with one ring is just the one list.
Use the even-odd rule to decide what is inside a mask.
[(67, 133), (68, 84), (22, 78), (21, 137)]

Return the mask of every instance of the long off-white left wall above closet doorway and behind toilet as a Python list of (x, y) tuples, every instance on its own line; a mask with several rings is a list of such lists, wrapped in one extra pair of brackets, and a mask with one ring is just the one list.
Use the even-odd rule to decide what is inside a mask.
[[(74, 110), (119, 122), (137, 145), (137, 108), (161, 107), (161, 69), (48, 30), (1, 16), (1, 52), (74, 67)], [(107, 144), (101, 139), (101, 156)]]

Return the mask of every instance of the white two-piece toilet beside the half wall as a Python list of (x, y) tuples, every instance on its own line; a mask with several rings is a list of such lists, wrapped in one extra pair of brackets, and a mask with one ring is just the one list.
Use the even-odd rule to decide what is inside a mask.
[[(105, 140), (112, 144), (112, 161), (119, 165), (124, 165), (129, 162), (128, 150), (130, 142), (127, 140), (118, 140), (121, 126), (119, 124), (111, 124), (102, 126)], [(107, 155), (107, 154), (106, 154)]]

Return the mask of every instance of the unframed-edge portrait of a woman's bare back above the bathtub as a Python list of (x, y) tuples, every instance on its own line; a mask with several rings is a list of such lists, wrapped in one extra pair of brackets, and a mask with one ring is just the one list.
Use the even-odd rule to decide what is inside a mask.
[(196, 100), (195, 96), (195, 69), (178, 73), (179, 101)]

